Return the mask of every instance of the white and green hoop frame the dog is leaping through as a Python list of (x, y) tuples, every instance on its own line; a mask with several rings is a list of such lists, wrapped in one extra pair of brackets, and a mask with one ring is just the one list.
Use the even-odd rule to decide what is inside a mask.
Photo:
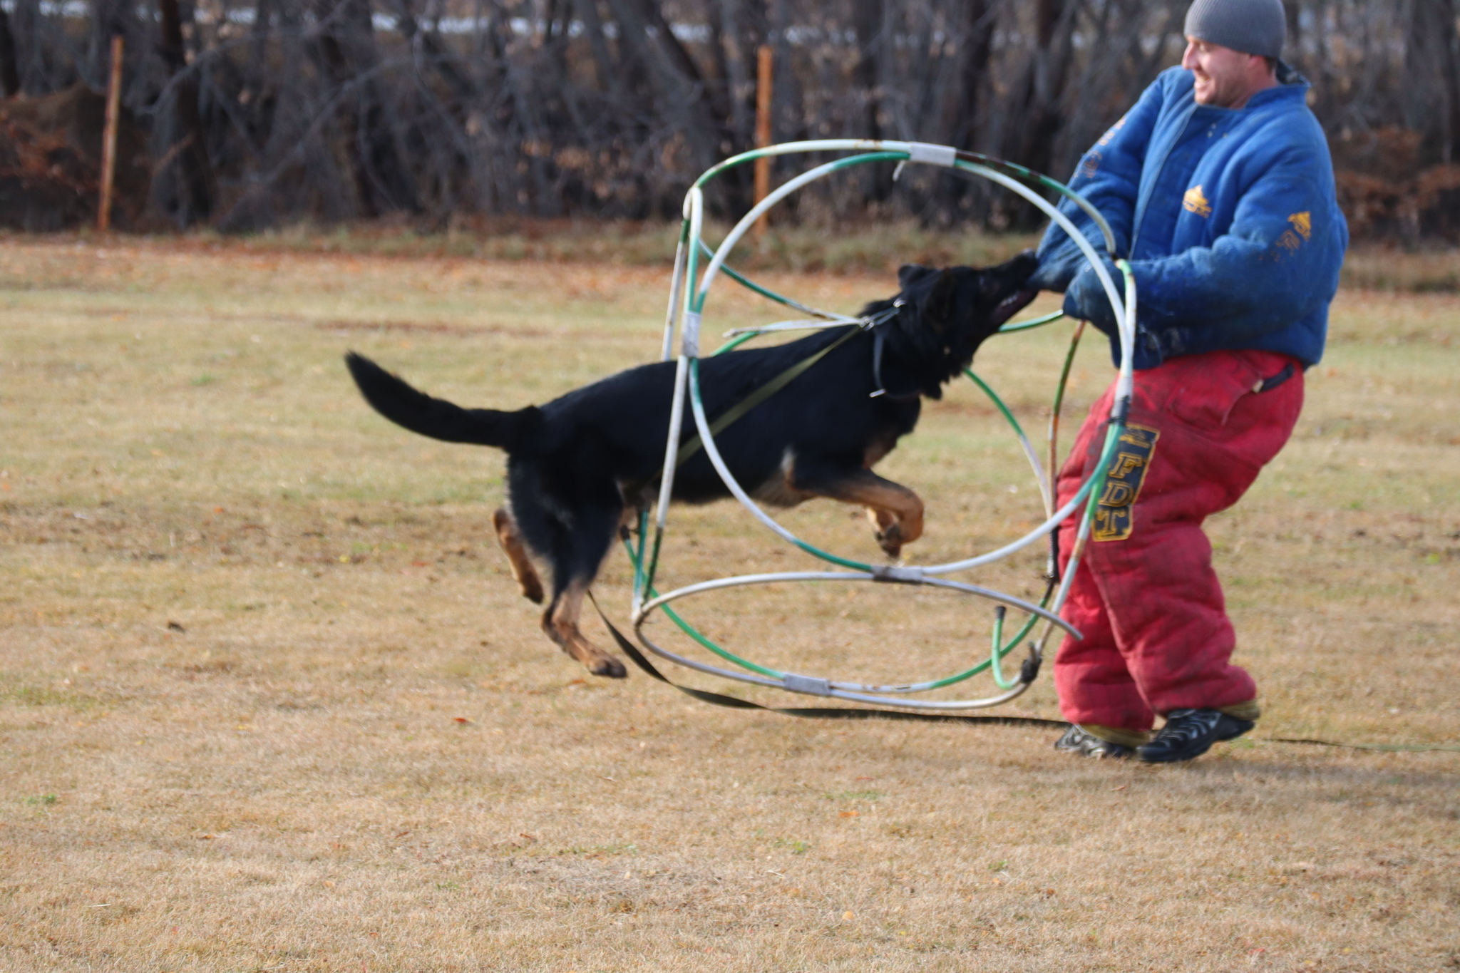
[[(701, 233), (704, 230), (704, 187), (720, 177), (726, 171), (752, 162), (755, 159), (766, 156), (785, 156), (812, 152), (840, 152), (840, 153), (854, 153), (844, 155), (842, 158), (834, 159), (831, 162), (822, 163), (803, 172), (802, 175), (787, 181), (775, 191), (768, 194), (761, 203), (758, 203), (749, 213), (746, 213), (739, 223), (730, 230), (718, 248), (711, 249), (702, 239)], [(1094, 267), (1101, 286), (1105, 289), (1105, 296), (1110, 299), (1110, 305), (1115, 312), (1115, 322), (1121, 349), (1121, 366), (1120, 375), (1115, 381), (1115, 395), (1114, 407), (1111, 408), (1110, 423), (1105, 432), (1105, 443), (1101, 451), (1099, 462), (1095, 465), (1089, 477), (1082, 483), (1076, 495), (1061, 508), (1054, 509), (1056, 495), (1053, 474), (1057, 468), (1057, 433), (1060, 422), (1060, 407), (1064, 398), (1064, 388), (1069, 382), (1070, 366), (1075, 360), (1075, 352), (1079, 346), (1080, 334), (1083, 333), (1083, 322), (1079, 322), (1070, 340), (1070, 349), (1066, 354), (1064, 369), (1060, 375), (1060, 382), (1054, 395), (1054, 406), (1050, 417), (1050, 442), (1048, 442), (1048, 471), (1035, 452), (1034, 446), (1029, 443), (1028, 436), (1019, 426), (1013, 413), (1007, 406), (999, 398), (991, 387), (988, 387), (978, 375), (971, 369), (965, 369), (965, 373), (972, 379), (988, 398), (994, 403), (999, 411), (1003, 414), (1004, 420), (1013, 427), (1015, 435), (1019, 439), (1025, 457), (1034, 471), (1034, 477), (1040, 486), (1040, 495), (1044, 500), (1044, 522), (1035, 530), (1029, 531), (1019, 540), (1004, 544), (997, 550), (987, 551), (984, 554), (977, 554), (967, 557), (964, 560), (949, 562), (946, 565), (921, 565), (921, 566), (883, 566), (883, 565), (866, 565), (854, 559), (841, 557), (838, 554), (823, 551), (802, 538), (796, 537), (791, 531), (778, 524), (771, 518), (761, 506), (750, 499), (745, 489), (736, 481), (730, 468), (726, 465), (715, 446), (714, 435), (717, 432), (717, 425), (712, 425), (705, 416), (704, 403), (701, 401), (699, 389), (699, 341), (702, 328), (702, 315), (705, 299), (710, 296), (710, 287), (714, 284), (715, 279), (724, 273), (737, 283), (749, 287), (750, 290), (759, 293), (769, 301), (788, 306), (800, 314), (806, 315), (806, 319), (796, 321), (781, 321), (756, 328), (739, 328), (730, 331), (727, 337), (730, 341), (723, 344), (720, 349), (712, 352), (718, 354), (729, 352), (745, 341), (749, 341), (761, 334), (774, 334), (778, 331), (790, 330), (810, 330), (810, 328), (835, 328), (856, 325), (863, 330), (875, 328), (891, 318), (891, 314), (883, 312), (875, 315), (873, 318), (853, 318), (848, 315), (837, 314), (832, 311), (822, 311), (804, 303), (800, 303), (784, 295), (778, 295), (768, 287), (755, 283), (745, 274), (733, 270), (726, 261), (734, 249), (736, 244), (745, 236), (750, 226), (772, 206), (780, 203), (783, 198), (796, 193), (804, 185), (809, 185), (821, 178), (838, 172), (841, 169), (848, 169), (856, 165), (864, 165), (869, 162), (896, 162), (898, 168), (894, 174), (894, 179), (901, 175), (902, 168), (908, 163), (933, 165), (942, 166), (953, 171), (961, 171), (983, 177), (1004, 188), (1019, 194), (1041, 212), (1044, 212), (1057, 226), (1060, 226), (1072, 241), (1080, 248), (1085, 260)], [(1104, 235), (1105, 249), (1108, 251), (1110, 260), (1115, 263), (1124, 277), (1124, 293), (1121, 298), (1120, 290), (1115, 287), (1115, 282), (1107, 268), (1101, 255), (1089, 244), (1083, 233), (1076, 229), (1076, 226), (1060, 213), (1054, 206), (1051, 206), (1042, 195), (1040, 195), (1035, 188), (1054, 190), (1067, 200), (1076, 203), (1085, 213), (1091, 216), (1095, 225)], [(701, 271), (701, 257), (708, 257), (710, 261)], [(895, 311), (892, 312), (895, 314)], [(1004, 324), (1000, 328), (1000, 334), (1010, 334), (1018, 331), (1026, 331), (1044, 324), (1050, 324), (1063, 317), (1063, 314), (1056, 312), (1034, 318), (1029, 321)], [(654, 509), (653, 518), (653, 543), (648, 541), (650, 534), (650, 512), (642, 511), (639, 513), (638, 522), (638, 541), (637, 544), (626, 541), (629, 559), (634, 563), (634, 595), (629, 607), (631, 621), (635, 635), (638, 635), (639, 642), (653, 654), (683, 665), (699, 672), (707, 672), (711, 675), (718, 675), (723, 678), (736, 680), (740, 683), (750, 683), (755, 686), (769, 686), (774, 689), (783, 689), (793, 693), (806, 693), (812, 696), (829, 696), (844, 700), (853, 700), (858, 703), (880, 703), (886, 706), (898, 706), (904, 709), (915, 710), (968, 710), (968, 709), (983, 709), (988, 706), (997, 706), (1006, 703), (1016, 696), (1022, 694), (1029, 684), (1034, 681), (1035, 672), (1038, 671), (1040, 659), (1042, 658), (1044, 646), (1050, 639), (1050, 635), (1060, 629), (1070, 633), (1075, 637), (1082, 637), (1080, 633), (1070, 626), (1064, 619), (1060, 617), (1060, 610), (1069, 597), (1070, 582), (1075, 578), (1075, 572), (1079, 567), (1080, 554), (1085, 544), (1089, 540), (1091, 524), (1094, 521), (1095, 506), (1104, 490), (1104, 483), (1107, 471), (1110, 467), (1110, 460), (1115, 454), (1117, 443), (1126, 427), (1126, 419), (1130, 411), (1130, 394), (1133, 385), (1132, 372), (1132, 357), (1134, 350), (1136, 337), (1136, 284), (1130, 271), (1130, 264), (1118, 258), (1115, 252), (1115, 238), (1110, 229), (1110, 225), (1101, 216), (1101, 213), (1089, 204), (1083, 197), (1070, 190), (1069, 187), (1050, 179), (1038, 172), (1025, 169), (1000, 159), (994, 159), (975, 152), (962, 152), (952, 149), (949, 146), (936, 146), (921, 142), (876, 142), (866, 139), (826, 139), (815, 142), (790, 142), (778, 146), (769, 146), (765, 149), (756, 149), (753, 152), (745, 152), (731, 159), (712, 166), (704, 175), (701, 175), (695, 184), (689, 188), (685, 195), (683, 206), (683, 222), (680, 225), (679, 247), (675, 254), (675, 273), (670, 283), (669, 295), (669, 311), (664, 319), (664, 340), (661, 347), (663, 360), (669, 360), (675, 353), (675, 337), (679, 337), (679, 354), (677, 366), (675, 371), (675, 391), (673, 401), (670, 406), (670, 420), (669, 420), (669, 438), (664, 445), (664, 468), (660, 476), (658, 497)], [(856, 334), (848, 331), (848, 336)], [(813, 356), (816, 357), (816, 356)], [(809, 368), (815, 362), (807, 360), (797, 368)], [(793, 369), (794, 373), (799, 373)], [(784, 378), (784, 376), (783, 376)], [(794, 375), (793, 375), (794, 378)], [(791, 381), (791, 379), (785, 379)], [(777, 385), (774, 391), (781, 387)], [(764, 391), (764, 389), (758, 389)], [(768, 392), (774, 394), (774, 391)], [(752, 400), (755, 400), (755, 392), (752, 392)], [(749, 400), (748, 400), (749, 401)], [(755, 400), (759, 404), (764, 400)], [(753, 407), (753, 406), (750, 406)], [(686, 585), (683, 588), (676, 588), (673, 591), (660, 594), (654, 588), (654, 575), (658, 567), (658, 557), (661, 544), (664, 540), (664, 532), (669, 524), (669, 506), (670, 496), (675, 486), (675, 468), (688, 454), (685, 449), (689, 448), (688, 443), (680, 443), (680, 435), (685, 430), (685, 413), (689, 413), (691, 422), (694, 422), (695, 430), (698, 432), (698, 448), (705, 451), (710, 462), (714, 465), (720, 478), (724, 481), (730, 493), (750, 512), (755, 519), (764, 524), (769, 531), (785, 540), (787, 543), (799, 547), (807, 554), (834, 565), (841, 570), (802, 570), (802, 572), (774, 572), (774, 573), (758, 573), (758, 575), (739, 575), (733, 578), (718, 578), (714, 581), (704, 581), (699, 584)], [(734, 407), (731, 407), (734, 411)], [(748, 411), (748, 410), (746, 410)], [(743, 413), (742, 413), (743, 414)], [(733, 422), (730, 419), (729, 422)], [(727, 425), (727, 420), (721, 417), (717, 420), (718, 427)], [(983, 588), (964, 581), (955, 581), (948, 578), (958, 572), (971, 570), (984, 565), (990, 565), (996, 560), (1007, 557), (1025, 547), (1034, 544), (1035, 541), (1050, 537), (1058, 530), (1067, 518), (1076, 513), (1083, 505), (1083, 513), (1080, 515), (1080, 525), (1076, 534), (1076, 543), (1070, 551), (1070, 559), (1063, 573), (1063, 578), (1057, 575), (1057, 565), (1051, 565), (1048, 575), (1048, 586), (1045, 589), (1044, 598), (1035, 604), (1016, 598), (1009, 594), (993, 591), (990, 588)], [(685, 621), (672, 607), (670, 602), (688, 598), (707, 591), (720, 591), (726, 588), (739, 588), (746, 585), (769, 585), (769, 584), (787, 584), (787, 582), (802, 582), (802, 581), (819, 581), (819, 582), (891, 582), (902, 585), (921, 585), (931, 588), (942, 588), (948, 591), (956, 591), (968, 595), (977, 595), (994, 602), (994, 624), (993, 624), (993, 648), (988, 658), (972, 665), (962, 672), (953, 675), (920, 681), (920, 683), (904, 683), (894, 686), (869, 686), (863, 683), (851, 683), (832, 680), (816, 675), (803, 675), (799, 672), (781, 672), (764, 665), (756, 665), (739, 655), (721, 648), (720, 645), (711, 642), (708, 637), (701, 635), (694, 626)], [(1019, 626), (1018, 632), (1004, 642), (1004, 617), (1009, 610), (1015, 610), (1025, 614), (1023, 623)], [(712, 665), (698, 659), (683, 656), (677, 652), (666, 649), (657, 645), (654, 640), (645, 636), (644, 624), (656, 613), (663, 611), (685, 635), (698, 642), (701, 646), (720, 656), (721, 659), (736, 665), (737, 668), (724, 668), (721, 665)], [(1029, 658), (1023, 664), (1021, 674), (1016, 677), (1006, 677), (1003, 672), (1003, 658), (1012, 652), (1040, 623), (1044, 623), (1044, 630), (1038, 639), (1029, 642)], [(962, 700), (917, 700), (908, 699), (908, 694), (923, 693), (934, 689), (942, 689), (945, 686), (952, 686), (961, 683), (972, 675), (977, 675), (988, 670), (999, 693), (984, 699), (962, 699)]]

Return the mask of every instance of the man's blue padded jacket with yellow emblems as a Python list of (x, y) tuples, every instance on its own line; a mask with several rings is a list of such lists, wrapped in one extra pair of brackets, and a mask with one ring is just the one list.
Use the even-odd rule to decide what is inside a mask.
[[(1349, 230), (1308, 82), (1286, 64), (1279, 80), (1245, 108), (1212, 108), (1196, 104), (1191, 71), (1172, 67), (1070, 179), (1134, 268), (1137, 369), (1219, 349), (1282, 352), (1305, 366), (1323, 356)], [(1094, 220), (1069, 200), (1060, 210), (1104, 255)], [(1058, 226), (1040, 244), (1034, 283), (1064, 290), (1064, 312), (1111, 336), (1120, 363), (1105, 290)]]

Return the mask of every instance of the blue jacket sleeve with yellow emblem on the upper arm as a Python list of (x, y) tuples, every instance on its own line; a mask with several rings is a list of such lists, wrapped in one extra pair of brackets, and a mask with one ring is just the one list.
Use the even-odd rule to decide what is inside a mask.
[[(1333, 191), (1321, 179), (1326, 159), (1315, 146), (1289, 143), (1251, 162), (1260, 171), (1238, 188), (1231, 225), (1210, 247), (1132, 264), (1137, 325), (1161, 357), (1213, 338), (1226, 347), (1260, 338), (1333, 298), (1348, 233), (1342, 225), (1324, 225), (1336, 219)], [(1064, 309), (1114, 331), (1110, 303), (1089, 270), (1070, 282)], [(1215, 328), (1221, 333), (1212, 334)]]

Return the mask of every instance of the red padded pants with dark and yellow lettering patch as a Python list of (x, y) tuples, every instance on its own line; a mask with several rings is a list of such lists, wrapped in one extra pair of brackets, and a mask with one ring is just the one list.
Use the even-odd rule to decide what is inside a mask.
[[(1254, 391), (1289, 363), (1292, 378)], [(1113, 395), (1080, 427), (1061, 505), (1099, 461)], [(1229, 662), (1237, 639), (1202, 522), (1247, 492), (1301, 408), (1302, 368), (1272, 352), (1191, 354), (1136, 373), (1130, 445), (1111, 462), (1064, 607), (1085, 635), (1066, 637), (1054, 659), (1066, 719), (1146, 731), (1156, 713), (1256, 699), (1257, 684)], [(1060, 530), (1061, 570), (1076, 527)]]

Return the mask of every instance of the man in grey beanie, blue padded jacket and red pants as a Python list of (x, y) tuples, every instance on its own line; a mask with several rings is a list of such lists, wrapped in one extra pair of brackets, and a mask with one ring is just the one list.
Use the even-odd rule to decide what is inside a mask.
[[(1139, 371), (1066, 607), (1085, 639), (1066, 639), (1054, 661), (1072, 724), (1060, 750), (1190, 760), (1259, 716), (1256, 683), (1229, 662), (1235, 633), (1202, 522), (1235, 503), (1292, 433), (1348, 247), (1308, 83), (1278, 60), (1285, 34), (1280, 0), (1196, 0), (1181, 67), (1070, 181), (1134, 268)], [(1104, 252), (1092, 220), (1063, 209)], [(1063, 290), (1066, 314), (1111, 336), (1118, 363), (1110, 302), (1079, 249), (1051, 226), (1040, 258), (1034, 283)], [(1099, 460), (1111, 395), (1060, 471), (1061, 503)], [(1070, 521), (1061, 560), (1073, 544)], [(1156, 715), (1165, 724), (1152, 737)]]

